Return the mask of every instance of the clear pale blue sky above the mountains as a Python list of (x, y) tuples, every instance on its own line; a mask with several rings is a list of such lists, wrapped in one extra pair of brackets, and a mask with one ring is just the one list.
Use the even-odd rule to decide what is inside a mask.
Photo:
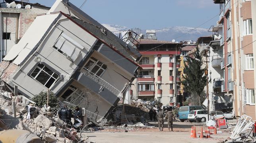
[[(29, 0), (51, 7), (55, 0)], [(84, 0), (70, 0), (80, 7)], [(219, 12), (212, 0), (87, 0), (82, 8), (99, 23), (128, 28), (197, 27)], [(200, 26), (209, 28), (219, 16)]]

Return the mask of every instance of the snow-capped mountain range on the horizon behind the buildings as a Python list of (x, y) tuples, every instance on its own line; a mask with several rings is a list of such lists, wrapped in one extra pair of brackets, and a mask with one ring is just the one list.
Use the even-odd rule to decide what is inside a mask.
[[(119, 32), (129, 30), (126, 26), (120, 26), (115, 24), (102, 24), (111, 32), (119, 35)], [(168, 28), (155, 29), (157, 40), (175, 41), (192, 40), (196, 41), (200, 36), (210, 36), (212, 33), (208, 32), (205, 28), (192, 28), (186, 26), (173, 26)], [(146, 34), (146, 30), (142, 30), (143, 34)]]

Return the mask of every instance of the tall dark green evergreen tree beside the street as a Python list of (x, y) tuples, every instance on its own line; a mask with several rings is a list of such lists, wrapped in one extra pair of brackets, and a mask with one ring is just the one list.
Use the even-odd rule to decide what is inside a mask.
[[(204, 99), (203, 92), (204, 87), (206, 86), (206, 75), (204, 75), (205, 68), (202, 69), (203, 60), (202, 55), (198, 47), (196, 47), (196, 52), (194, 53), (194, 58), (187, 57), (187, 60), (184, 60), (184, 73), (182, 75), (184, 85), (184, 90), (189, 93), (196, 93), (199, 99), (199, 104), (202, 104), (201, 99)], [(195, 96), (195, 95), (194, 95)]]

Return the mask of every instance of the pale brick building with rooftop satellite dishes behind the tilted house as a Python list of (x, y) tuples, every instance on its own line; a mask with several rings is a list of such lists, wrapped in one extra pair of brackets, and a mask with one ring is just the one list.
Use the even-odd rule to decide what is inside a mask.
[[(1, 3), (0, 5), (0, 29), (2, 30), (0, 35), (0, 61), (6, 56), (12, 46), (19, 42), (37, 15), (46, 14), (50, 9), (38, 3), (31, 4), (29, 2), (16, 0), (5, 0), (5, 2), (9, 4), (15, 3), (13, 3), (11, 7), (7, 6), (6, 3)], [(18, 4), (21, 5), (21, 8), (14, 7)], [(25, 6), (27, 7), (25, 8)]]

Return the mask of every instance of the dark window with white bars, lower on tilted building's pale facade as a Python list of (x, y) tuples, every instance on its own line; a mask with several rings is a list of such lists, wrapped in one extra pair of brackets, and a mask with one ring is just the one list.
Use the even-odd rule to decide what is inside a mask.
[(53, 72), (43, 64), (38, 64), (30, 76), (47, 88), (52, 87), (59, 77), (57, 73)]

